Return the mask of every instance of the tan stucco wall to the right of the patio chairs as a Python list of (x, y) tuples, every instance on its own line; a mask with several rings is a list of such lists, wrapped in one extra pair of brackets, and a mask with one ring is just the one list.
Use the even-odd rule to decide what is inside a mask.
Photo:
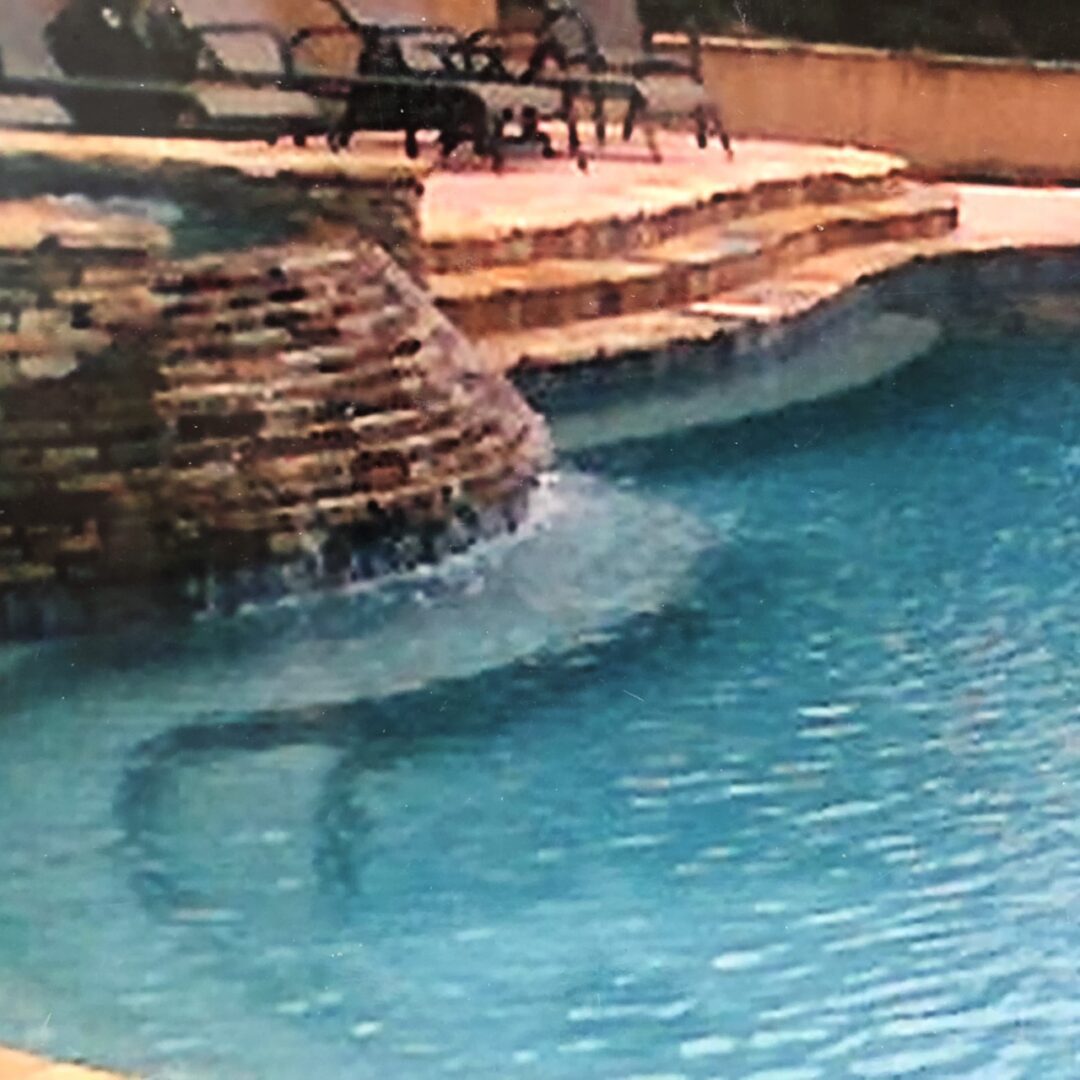
[(1080, 179), (1080, 66), (712, 38), (735, 135), (854, 143), (939, 175)]

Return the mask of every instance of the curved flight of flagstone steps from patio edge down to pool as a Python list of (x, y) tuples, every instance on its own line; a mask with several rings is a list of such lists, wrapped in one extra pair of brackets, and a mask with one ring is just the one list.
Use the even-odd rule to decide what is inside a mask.
[(860, 280), (866, 265), (906, 261), (956, 225), (945, 189), (897, 174), (815, 177), (660, 221), (597, 221), (595, 244), (578, 229), (559, 243), (463, 244), (457, 260), (442, 245), (429, 282), (491, 367), (551, 366), (793, 318)]

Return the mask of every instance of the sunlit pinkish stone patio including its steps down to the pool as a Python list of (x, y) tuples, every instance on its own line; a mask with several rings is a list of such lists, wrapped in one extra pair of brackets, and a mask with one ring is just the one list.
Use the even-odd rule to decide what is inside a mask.
[(779, 140), (664, 161), (616, 144), (503, 176), (437, 171), (421, 235), (443, 309), (500, 370), (768, 330), (916, 259), (1080, 246), (1080, 192), (929, 185), (891, 154)]

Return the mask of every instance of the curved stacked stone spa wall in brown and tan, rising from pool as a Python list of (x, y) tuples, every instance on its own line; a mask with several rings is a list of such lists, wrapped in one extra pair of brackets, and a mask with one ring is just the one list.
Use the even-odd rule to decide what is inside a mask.
[(379, 198), (315, 187), (307, 239), (186, 260), (113, 230), (0, 252), (0, 634), (376, 577), (516, 525), (542, 422), (368, 239), (415, 219)]

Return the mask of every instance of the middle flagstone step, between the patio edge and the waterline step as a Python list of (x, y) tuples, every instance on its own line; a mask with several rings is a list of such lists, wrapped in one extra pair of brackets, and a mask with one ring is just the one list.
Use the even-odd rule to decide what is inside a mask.
[(542, 259), (436, 274), (431, 286), (474, 339), (535, 337), (588, 320), (678, 309), (837, 248), (940, 237), (956, 221), (949, 194), (905, 185), (887, 199), (797, 205), (711, 226), (625, 259)]

